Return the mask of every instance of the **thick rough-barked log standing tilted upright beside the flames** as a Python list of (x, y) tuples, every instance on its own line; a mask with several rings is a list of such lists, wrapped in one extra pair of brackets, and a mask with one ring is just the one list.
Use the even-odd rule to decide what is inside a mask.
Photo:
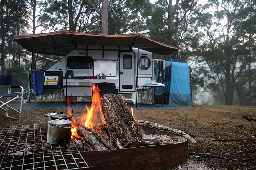
[(124, 98), (116, 94), (105, 94), (101, 101), (110, 143), (116, 149), (141, 146), (143, 139)]

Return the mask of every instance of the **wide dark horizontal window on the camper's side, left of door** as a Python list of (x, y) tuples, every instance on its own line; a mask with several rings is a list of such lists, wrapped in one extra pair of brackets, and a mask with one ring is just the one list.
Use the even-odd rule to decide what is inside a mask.
[(69, 56), (67, 58), (67, 67), (69, 69), (92, 69), (93, 58), (82, 56)]

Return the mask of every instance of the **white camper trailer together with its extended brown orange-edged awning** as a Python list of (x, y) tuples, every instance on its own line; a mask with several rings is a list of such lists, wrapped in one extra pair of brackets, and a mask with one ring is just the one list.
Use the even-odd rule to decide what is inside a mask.
[(16, 35), (14, 40), (30, 52), (63, 56), (45, 70), (46, 92), (91, 96), (92, 84), (103, 93), (136, 92), (153, 79), (152, 53), (169, 55), (181, 49), (152, 40), (147, 33), (97, 35), (61, 30)]

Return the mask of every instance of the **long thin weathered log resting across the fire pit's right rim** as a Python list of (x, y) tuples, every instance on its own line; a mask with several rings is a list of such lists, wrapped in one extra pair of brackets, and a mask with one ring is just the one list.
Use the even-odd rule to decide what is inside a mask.
[(188, 135), (187, 133), (181, 130), (169, 128), (167, 126), (163, 126), (163, 125), (160, 125), (154, 122), (149, 122), (149, 121), (137, 120), (136, 122), (138, 123), (139, 126), (146, 126), (152, 129), (166, 132), (166, 133), (171, 133), (173, 135), (184, 137), (185, 139), (188, 139), (189, 141), (196, 143), (196, 141), (190, 135)]

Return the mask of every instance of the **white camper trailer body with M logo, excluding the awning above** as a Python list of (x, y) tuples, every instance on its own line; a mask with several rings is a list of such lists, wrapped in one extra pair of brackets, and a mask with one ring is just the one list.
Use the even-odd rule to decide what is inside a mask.
[(136, 80), (141, 86), (153, 79), (151, 52), (117, 46), (104, 47), (103, 54), (99, 47), (87, 48), (72, 50), (45, 71), (46, 92), (64, 89), (64, 96), (92, 96), (92, 84), (97, 84), (102, 93), (132, 93)]

